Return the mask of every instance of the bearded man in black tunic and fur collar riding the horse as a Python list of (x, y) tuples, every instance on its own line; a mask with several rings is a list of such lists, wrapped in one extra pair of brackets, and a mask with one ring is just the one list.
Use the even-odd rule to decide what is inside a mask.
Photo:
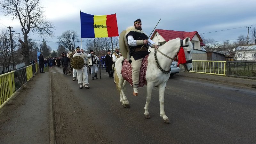
[(140, 19), (135, 20), (133, 25), (134, 26), (126, 29), (126, 33), (128, 33), (126, 38), (130, 49), (130, 62), (132, 64), (132, 94), (137, 96), (139, 94), (138, 84), (142, 59), (149, 54), (148, 46), (158, 48), (158, 45), (156, 45), (156, 43), (151, 39), (148, 40), (148, 36), (143, 32), (141, 28)]

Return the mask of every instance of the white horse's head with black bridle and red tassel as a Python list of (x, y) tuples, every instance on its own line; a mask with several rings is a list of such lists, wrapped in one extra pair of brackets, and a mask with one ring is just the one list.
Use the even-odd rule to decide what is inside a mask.
[[(193, 65), (192, 65), (193, 45), (190, 42), (190, 38), (189, 37), (185, 38), (184, 40), (180, 40), (180, 48), (181, 47), (183, 47), (183, 49), (184, 49), (184, 54), (185, 54), (186, 60), (183, 60), (184, 62), (180, 62), (180, 64), (182, 64), (184, 66), (186, 71), (190, 71), (192, 69), (192, 67), (193, 67)], [(182, 55), (180, 57), (182, 57)], [(178, 54), (178, 56), (179, 56), (179, 54)], [(179, 57), (177, 57), (177, 59), (178, 59), (178, 61), (180, 61)]]

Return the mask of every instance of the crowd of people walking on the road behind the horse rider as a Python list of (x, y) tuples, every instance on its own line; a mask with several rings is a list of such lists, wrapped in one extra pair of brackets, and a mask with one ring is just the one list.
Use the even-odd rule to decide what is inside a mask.
[[(80, 56), (84, 59), (83, 68), (74, 69), (71, 67), (71, 59), (74, 56)], [(119, 53), (118, 48), (116, 48), (115, 53), (111, 54), (110, 50), (108, 50), (107, 54), (100, 57), (95, 55), (93, 50), (90, 50), (90, 53), (87, 54), (83, 51), (83, 49), (80, 50), (80, 47), (78, 46), (74, 52), (62, 52), (60, 57), (44, 58), (44, 56), (40, 54), (38, 59), (40, 73), (44, 73), (44, 67), (48, 66), (49, 68), (52, 68), (57, 66), (63, 69), (64, 76), (73, 75), (73, 81), (77, 80), (79, 89), (82, 89), (83, 87), (89, 89), (90, 87), (88, 86), (88, 75), (91, 74), (92, 80), (95, 80), (94, 78), (98, 79), (97, 73), (99, 68), (106, 69), (109, 78), (114, 78), (113, 64), (120, 56), (121, 54)], [(116, 82), (114, 81), (114, 83)]]

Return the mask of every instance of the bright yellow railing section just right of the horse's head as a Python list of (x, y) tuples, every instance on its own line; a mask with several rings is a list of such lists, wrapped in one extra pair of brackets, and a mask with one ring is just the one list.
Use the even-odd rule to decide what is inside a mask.
[(227, 61), (193, 60), (191, 72), (226, 76)]

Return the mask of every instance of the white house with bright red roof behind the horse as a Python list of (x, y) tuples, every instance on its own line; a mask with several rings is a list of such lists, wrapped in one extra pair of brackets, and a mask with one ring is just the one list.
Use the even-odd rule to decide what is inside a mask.
[(193, 44), (193, 48), (197, 50), (202, 50), (202, 46), (205, 46), (202, 38), (198, 34), (197, 31), (186, 32), (186, 31), (175, 31), (175, 30), (164, 30), (164, 29), (156, 29), (150, 39), (159, 46), (165, 44), (169, 40), (175, 38), (185, 39), (186, 37), (190, 37), (190, 41)]

